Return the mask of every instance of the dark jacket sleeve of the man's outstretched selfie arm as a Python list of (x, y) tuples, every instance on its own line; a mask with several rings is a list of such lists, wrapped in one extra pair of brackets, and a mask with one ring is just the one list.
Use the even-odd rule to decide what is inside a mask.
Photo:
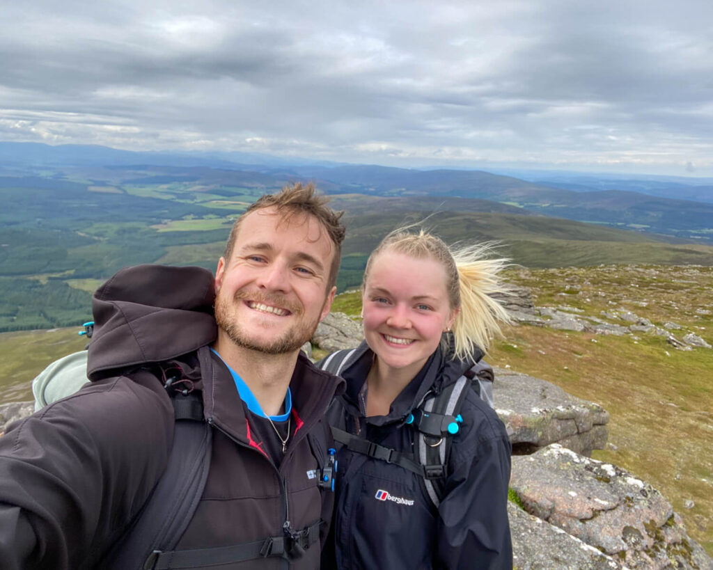
[(50, 405), (0, 437), (3, 570), (96, 564), (163, 472), (171, 410), (152, 390), (133, 383), (122, 389), (113, 380)]

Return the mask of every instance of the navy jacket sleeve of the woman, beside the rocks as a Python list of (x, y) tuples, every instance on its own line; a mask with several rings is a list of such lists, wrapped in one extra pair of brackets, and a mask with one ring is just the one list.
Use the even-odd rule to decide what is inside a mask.
[(477, 410), (481, 420), (451, 447), (453, 470), (438, 507), (438, 567), (511, 570), (511, 443), (493, 410)]

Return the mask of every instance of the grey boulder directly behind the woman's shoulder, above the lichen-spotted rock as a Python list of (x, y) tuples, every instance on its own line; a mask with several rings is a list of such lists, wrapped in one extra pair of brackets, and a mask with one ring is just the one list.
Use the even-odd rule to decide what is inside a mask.
[(607, 443), (609, 413), (540, 378), (496, 368), (493, 400), (513, 443), (523, 454), (559, 442), (583, 455)]

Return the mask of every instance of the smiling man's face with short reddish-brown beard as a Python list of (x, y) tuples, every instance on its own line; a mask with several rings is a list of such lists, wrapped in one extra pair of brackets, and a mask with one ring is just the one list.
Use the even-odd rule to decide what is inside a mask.
[(230, 340), (270, 354), (297, 351), (327, 316), (334, 246), (311, 216), (273, 208), (242, 219), (230, 259), (215, 273), (215, 320)]

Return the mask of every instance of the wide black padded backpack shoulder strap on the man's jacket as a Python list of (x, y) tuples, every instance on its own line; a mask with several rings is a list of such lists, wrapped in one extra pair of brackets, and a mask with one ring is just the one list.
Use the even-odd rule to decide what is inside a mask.
[(200, 391), (171, 400), (176, 422), (166, 469), (132, 526), (104, 557), (103, 569), (142, 569), (151, 552), (175, 548), (198, 507), (210, 470), (212, 431), (203, 418)]

